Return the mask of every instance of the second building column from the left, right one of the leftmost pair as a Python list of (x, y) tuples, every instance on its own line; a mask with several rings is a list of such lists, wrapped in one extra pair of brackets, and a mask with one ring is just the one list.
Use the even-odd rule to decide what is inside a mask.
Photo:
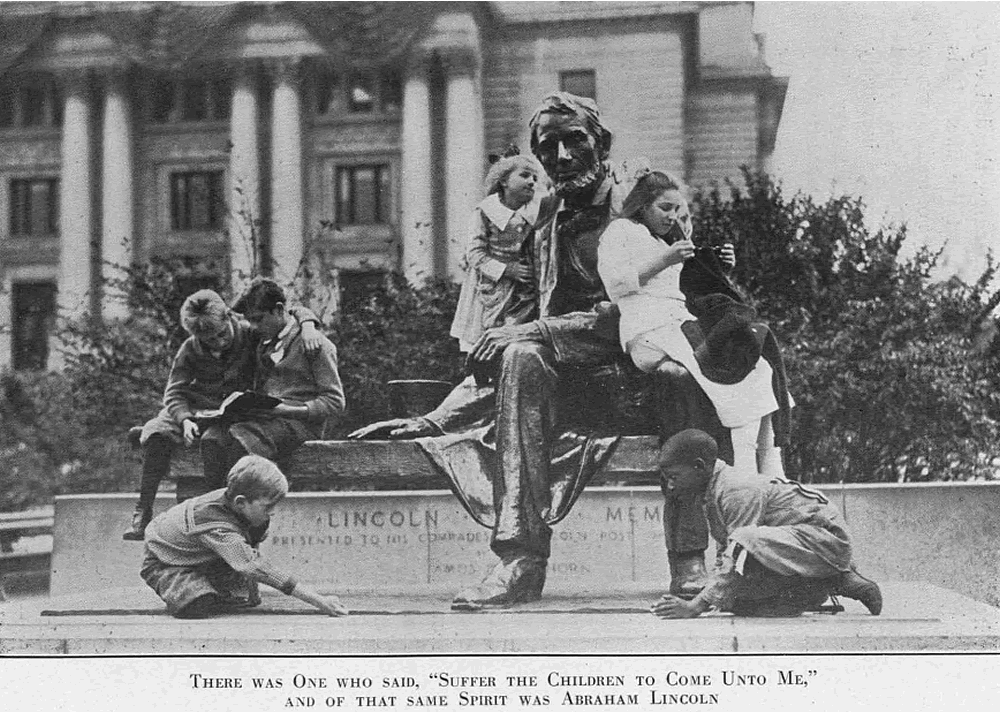
[(134, 179), (132, 107), (124, 71), (109, 74), (104, 88), (104, 155), (101, 163), (101, 314), (121, 319), (128, 312), (121, 282), (132, 263)]

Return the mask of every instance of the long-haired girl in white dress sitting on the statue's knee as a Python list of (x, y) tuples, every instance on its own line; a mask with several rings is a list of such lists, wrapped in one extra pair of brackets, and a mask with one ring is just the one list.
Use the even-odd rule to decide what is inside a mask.
[[(652, 171), (640, 177), (625, 198), (598, 246), (598, 272), (608, 296), (621, 311), (622, 348), (642, 371), (684, 366), (715, 406), (733, 439), (734, 467), (782, 474), (774, 447), (771, 414), (778, 402), (772, 369), (763, 358), (742, 381), (732, 385), (708, 379), (698, 365), (681, 324), (694, 321), (680, 288), (684, 262), (694, 256), (691, 213), (681, 182)], [(736, 253), (725, 245), (720, 260), (733, 267)], [(675, 368), (673, 364), (667, 366)]]

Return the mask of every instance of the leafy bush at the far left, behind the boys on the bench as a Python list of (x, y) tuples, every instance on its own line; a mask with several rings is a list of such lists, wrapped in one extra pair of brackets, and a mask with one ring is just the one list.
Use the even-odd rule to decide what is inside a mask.
[(0, 510), (136, 487), (139, 461), (124, 434), (160, 408), (186, 336), (180, 305), (192, 289), (211, 285), (212, 274), (191, 260), (133, 267), (114, 285), (127, 295), (124, 319), (60, 321), (62, 371), (3, 375)]

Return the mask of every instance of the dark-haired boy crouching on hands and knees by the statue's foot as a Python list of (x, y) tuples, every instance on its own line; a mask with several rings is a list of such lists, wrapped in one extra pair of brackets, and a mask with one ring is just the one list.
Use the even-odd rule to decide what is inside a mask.
[(797, 616), (828, 596), (882, 611), (882, 592), (854, 568), (851, 541), (836, 507), (798, 482), (736, 472), (716, 459), (700, 430), (673, 436), (660, 450), (664, 494), (705, 492), (705, 514), (719, 551), (709, 583), (693, 600), (670, 594), (650, 610), (694, 618), (709, 609), (738, 616)]

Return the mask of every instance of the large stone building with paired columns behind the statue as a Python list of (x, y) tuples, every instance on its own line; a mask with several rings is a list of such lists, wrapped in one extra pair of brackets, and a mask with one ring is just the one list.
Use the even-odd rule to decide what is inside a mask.
[[(288, 280), (322, 255), (461, 276), (486, 156), (546, 93), (594, 97), (612, 158), (689, 182), (767, 167), (787, 81), (752, 3), (0, 4), (0, 369), (54, 315), (125, 308), (115, 265)], [(58, 305), (58, 306), (57, 306)]]

